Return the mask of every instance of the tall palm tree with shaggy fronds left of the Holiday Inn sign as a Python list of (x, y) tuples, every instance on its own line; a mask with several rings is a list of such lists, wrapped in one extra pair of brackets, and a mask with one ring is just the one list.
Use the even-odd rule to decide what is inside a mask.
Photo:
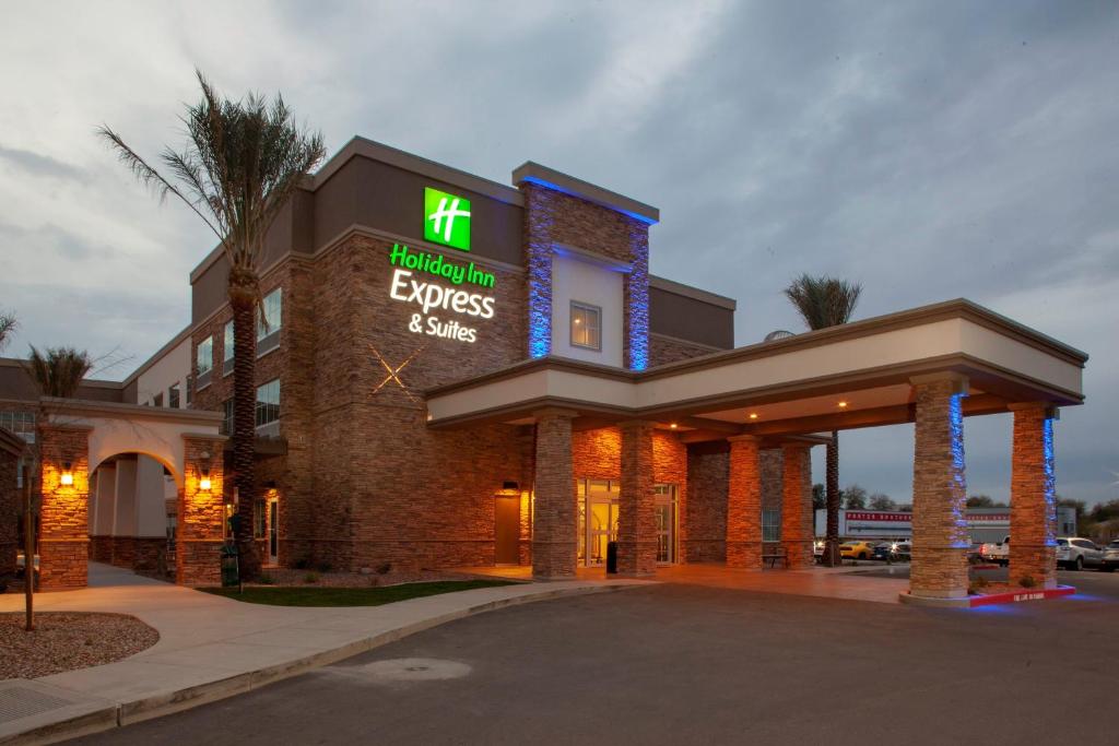
[[(233, 483), (241, 495), (235, 521), (241, 567), (247, 578), (260, 573), (253, 541), (255, 451), (256, 323), (261, 305), (260, 270), (264, 236), (300, 180), (326, 155), (320, 133), (292, 121), (278, 94), (271, 103), (258, 94), (241, 101), (220, 97), (196, 70), (203, 98), (187, 107), (184, 150), (160, 155), (177, 183), (149, 166), (109, 126), (100, 133), (132, 173), (153, 189), (182, 200), (217, 236), (229, 265), (227, 293), (233, 308), (234, 424)], [(264, 315), (261, 313), (261, 319)]]

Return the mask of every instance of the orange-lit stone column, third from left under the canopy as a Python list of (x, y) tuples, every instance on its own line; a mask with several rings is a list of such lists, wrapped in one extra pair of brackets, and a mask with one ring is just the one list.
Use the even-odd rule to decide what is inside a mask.
[(761, 441), (753, 435), (736, 435), (727, 441), (731, 469), (726, 489), (726, 566), (761, 569)]

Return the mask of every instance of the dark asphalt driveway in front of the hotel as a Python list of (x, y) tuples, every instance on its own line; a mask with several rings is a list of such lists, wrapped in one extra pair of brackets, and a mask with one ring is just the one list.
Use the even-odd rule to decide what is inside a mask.
[(929, 610), (658, 585), (453, 622), (83, 743), (1107, 743), (1119, 575)]

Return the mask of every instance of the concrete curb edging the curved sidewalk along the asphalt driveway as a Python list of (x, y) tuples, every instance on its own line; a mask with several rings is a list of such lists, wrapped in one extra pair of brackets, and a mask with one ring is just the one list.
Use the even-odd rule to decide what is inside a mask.
[[(382, 645), (396, 642), (419, 632), (424, 632), (441, 624), (455, 620), (485, 614), (509, 606), (520, 606), (538, 601), (553, 601), (568, 596), (584, 596), (600, 593), (614, 593), (628, 588), (640, 588), (652, 583), (633, 583), (620, 585), (589, 586), (582, 588), (554, 588), (542, 589), (539, 593), (530, 595), (487, 601), (467, 608), (448, 612), (432, 616), (411, 624), (404, 624), (395, 630), (388, 630), (379, 634), (356, 640), (341, 648), (326, 650), (310, 655), (294, 658), (284, 663), (272, 665), (256, 671), (237, 673), (235, 676), (217, 679), (195, 687), (187, 687), (173, 691), (159, 692), (140, 699), (125, 702), (116, 702), (109, 707), (98, 708), (92, 712), (83, 712), (76, 717), (66, 718), (55, 723), (37, 726), (22, 733), (0, 736), (0, 744), (54, 744), (78, 736), (88, 736), (95, 733), (112, 730), (113, 728), (142, 723), (152, 718), (172, 715), (200, 705), (243, 695), (260, 687), (264, 687), (283, 679), (288, 679), (312, 669), (331, 665), (338, 661), (359, 655)], [(32, 680), (34, 681), (34, 680)]]

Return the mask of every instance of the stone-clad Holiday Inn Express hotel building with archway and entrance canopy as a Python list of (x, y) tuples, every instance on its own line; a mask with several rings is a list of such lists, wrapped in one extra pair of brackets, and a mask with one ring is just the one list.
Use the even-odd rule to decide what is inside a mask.
[[(1082, 403), (1087, 356), (962, 300), (735, 349), (733, 300), (649, 274), (659, 218), (533, 162), (506, 186), (347, 144), (266, 239), (247, 498), (265, 563), (554, 578), (617, 541), (631, 576), (802, 567), (812, 446), (913, 422), (913, 593), (959, 595), (963, 417), (1013, 412), (1012, 567), (1053, 582), (1053, 421)], [(40, 403), (0, 367), (0, 426), (48, 412), (45, 489), (69, 495), (44, 541), (74, 567), (45, 584), (79, 585), (85, 556), (150, 557), (170, 521), (179, 582), (216, 578), (226, 277), (215, 249), (190, 324), (122, 384)]]

